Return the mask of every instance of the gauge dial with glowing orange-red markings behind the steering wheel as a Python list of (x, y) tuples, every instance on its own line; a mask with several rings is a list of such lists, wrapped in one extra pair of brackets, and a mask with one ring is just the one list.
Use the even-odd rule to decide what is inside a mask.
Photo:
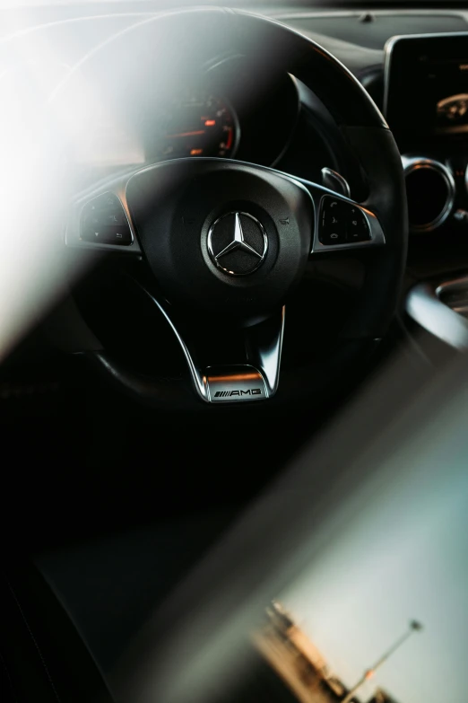
[(190, 95), (174, 101), (160, 123), (156, 157), (234, 154), (238, 122), (226, 101), (214, 95)]

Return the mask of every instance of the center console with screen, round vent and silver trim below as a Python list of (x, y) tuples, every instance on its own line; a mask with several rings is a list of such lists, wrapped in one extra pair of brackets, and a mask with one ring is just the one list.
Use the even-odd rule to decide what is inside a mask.
[(406, 312), (419, 328), (468, 349), (468, 32), (386, 44), (384, 113), (408, 196)]

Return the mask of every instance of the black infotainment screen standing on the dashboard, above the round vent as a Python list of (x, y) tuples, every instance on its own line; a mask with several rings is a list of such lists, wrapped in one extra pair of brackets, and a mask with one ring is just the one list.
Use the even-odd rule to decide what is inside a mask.
[(468, 32), (388, 40), (384, 112), (395, 131), (468, 131)]

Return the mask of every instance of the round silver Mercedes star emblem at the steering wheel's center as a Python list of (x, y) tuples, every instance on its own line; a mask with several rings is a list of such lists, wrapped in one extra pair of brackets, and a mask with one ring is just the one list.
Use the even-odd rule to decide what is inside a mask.
[(264, 262), (268, 237), (256, 217), (232, 212), (213, 222), (207, 244), (218, 268), (231, 276), (246, 276)]

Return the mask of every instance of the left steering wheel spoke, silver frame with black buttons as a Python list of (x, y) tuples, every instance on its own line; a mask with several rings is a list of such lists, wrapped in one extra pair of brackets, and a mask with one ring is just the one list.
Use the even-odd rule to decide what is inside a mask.
[(130, 175), (102, 181), (74, 199), (65, 228), (65, 246), (141, 255), (126, 201)]

